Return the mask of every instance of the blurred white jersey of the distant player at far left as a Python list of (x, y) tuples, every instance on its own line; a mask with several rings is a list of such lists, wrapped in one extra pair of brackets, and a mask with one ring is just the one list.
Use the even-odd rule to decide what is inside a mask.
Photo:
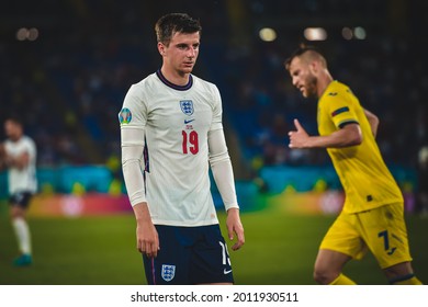
[(35, 193), (37, 190), (36, 178), (36, 146), (34, 141), (27, 137), (22, 136), (18, 141), (5, 140), (5, 152), (11, 157), (19, 157), (27, 152), (30, 160), (29, 164), (23, 169), (9, 167), (9, 193), (15, 194), (18, 192)]

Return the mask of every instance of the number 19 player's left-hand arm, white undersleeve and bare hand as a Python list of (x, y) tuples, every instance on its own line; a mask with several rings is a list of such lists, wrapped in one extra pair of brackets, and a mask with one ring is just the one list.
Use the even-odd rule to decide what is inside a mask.
[(156, 257), (159, 238), (151, 221), (140, 169), (144, 149), (144, 129), (121, 128), (122, 170), (125, 185), (137, 223), (137, 249), (147, 257)]

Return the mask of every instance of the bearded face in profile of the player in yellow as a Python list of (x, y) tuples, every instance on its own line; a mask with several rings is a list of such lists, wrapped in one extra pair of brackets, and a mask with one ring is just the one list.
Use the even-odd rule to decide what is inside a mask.
[(309, 64), (295, 57), (290, 64), (289, 71), (293, 86), (302, 92), (304, 98), (317, 96), (317, 79)]

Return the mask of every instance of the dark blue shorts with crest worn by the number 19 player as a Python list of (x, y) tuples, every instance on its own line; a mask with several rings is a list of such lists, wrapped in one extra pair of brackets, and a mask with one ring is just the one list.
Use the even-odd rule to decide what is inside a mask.
[(230, 259), (218, 225), (176, 227), (156, 225), (157, 258), (143, 254), (149, 285), (233, 283)]

